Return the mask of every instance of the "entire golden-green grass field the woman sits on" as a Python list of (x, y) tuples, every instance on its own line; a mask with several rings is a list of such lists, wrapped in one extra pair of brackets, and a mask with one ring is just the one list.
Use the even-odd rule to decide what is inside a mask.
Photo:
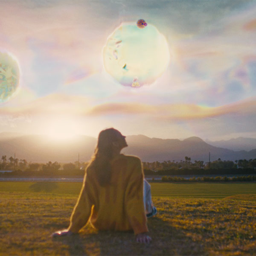
[[(81, 183), (0, 182), (0, 255), (256, 255), (255, 183), (151, 183), (153, 242), (99, 232), (51, 239), (69, 224)], [(180, 198), (178, 198), (180, 197)]]

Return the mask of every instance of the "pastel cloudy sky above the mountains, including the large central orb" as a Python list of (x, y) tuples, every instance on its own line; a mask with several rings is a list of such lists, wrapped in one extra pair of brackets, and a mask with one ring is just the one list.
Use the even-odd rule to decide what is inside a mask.
[[(20, 73), (0, 102), (0, 132), (256, 138), (256, 1), (0, 0), (0, 9), (0, 52)], [(139, 19), (148, 26), (137, 29)], [(108, 48), (128, 24), (118, 61), (140, 71), (138, 87)]]

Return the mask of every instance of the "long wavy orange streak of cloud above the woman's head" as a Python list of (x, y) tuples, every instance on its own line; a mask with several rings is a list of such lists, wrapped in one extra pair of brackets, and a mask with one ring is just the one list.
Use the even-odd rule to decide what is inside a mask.
[(224, 105), (222, 107), (204, 107), (195, 104), (147, 105), (141, 103), (105, 103), (93, 107), (87, 114), (100, 115), (148, 115), (154, 119), (191, 120), (223, 116), (231, 113), (255, 113), (256, 99)]

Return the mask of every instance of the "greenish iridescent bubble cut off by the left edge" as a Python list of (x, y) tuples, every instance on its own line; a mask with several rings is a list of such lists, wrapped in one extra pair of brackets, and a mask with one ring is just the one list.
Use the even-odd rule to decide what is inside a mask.
[(6, 102), (19, 85), (17, 61), (7, 52), (0, 52), (0, 103)]

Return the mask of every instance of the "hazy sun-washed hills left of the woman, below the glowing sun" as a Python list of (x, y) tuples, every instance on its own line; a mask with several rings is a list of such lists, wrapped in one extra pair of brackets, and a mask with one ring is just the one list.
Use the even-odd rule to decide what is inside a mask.
[(0, 160), (2, 155), (8, 158), (14, 153), (18, 159), (46, 163), (70, 163), (78, 160), (89, 160), (96, 146), (96, 138), (79, 136), (74, 141), (57, 142), (44, 135), (23, 135), (19, 137), (7, 136), (4, 139), (0, 134)]

